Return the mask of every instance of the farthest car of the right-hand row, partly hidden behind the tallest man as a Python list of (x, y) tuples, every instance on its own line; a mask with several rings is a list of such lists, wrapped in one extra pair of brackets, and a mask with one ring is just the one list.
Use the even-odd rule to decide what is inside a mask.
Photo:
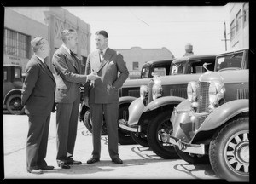
[[(174, 59), (166, 60), (150, 60), (146, 62), (141, 70), (141, 76), (138, 79), (128, 79), (119, 89), (119, 118), (128, 119), (128, 106), (131, 101), (134, 101), (140, 96), (140, 86), (148, 84), (150, 78), (154, 75), (165, 76), (170, 73), (170, 66)], [(81, 90), (83, 96), (83, 89)], [(90, 120), (90, 108), (85, 106), (83, 98), (81, 98), (81, 110), (79, 112), (79, 120), (83, 121), (85, 127), (91, 132), (92, 125)], [(102, 120), (102, 135), (106, 135), (107, 127), (105, 120)], [(131, 138), (130, 132), (119, 129), (119, 143), (120, 144), (133, 144), (135, 141)]]

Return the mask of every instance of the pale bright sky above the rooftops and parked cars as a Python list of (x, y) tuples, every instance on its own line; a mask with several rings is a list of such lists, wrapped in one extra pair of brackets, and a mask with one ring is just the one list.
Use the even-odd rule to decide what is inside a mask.
[[(230, 20), (226, 6), (109, 6), (63, 7), (90, 25), (90, 49), (95, 50), (94, 33), (108, 32), (112, 49), (161, 49), (182, 57), (185, 45), (193, 45), (194, 55), (225, 51), (224, 21)], [(227, 38), (230, 35), (227, 34)], [(229, 49), (229, 45), (228, 45)]]

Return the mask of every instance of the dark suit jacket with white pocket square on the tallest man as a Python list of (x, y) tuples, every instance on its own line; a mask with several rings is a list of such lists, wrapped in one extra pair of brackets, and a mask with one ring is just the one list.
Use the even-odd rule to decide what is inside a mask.
[[(85, 74), (89, 74), (93, 70), (102, 77), (94, 81), (94, 85), (90, 89), (89, 103), (119, 102), (118, 89), (122, 87), (129, 76), (123, 56), (108, 48), (102, 63), (99, 60), (99, 51), (96, 50), (88, 55), (86, 61)], [(86, 92), (86, 90), (84, 91)]]

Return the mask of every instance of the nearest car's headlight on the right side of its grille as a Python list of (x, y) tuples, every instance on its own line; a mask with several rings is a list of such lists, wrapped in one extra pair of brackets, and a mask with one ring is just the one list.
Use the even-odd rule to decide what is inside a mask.
[(209, 86), (209, 102), (210, 105), (216, 106), (221, 99), (224, 99), (224, 83), (213, 80)]

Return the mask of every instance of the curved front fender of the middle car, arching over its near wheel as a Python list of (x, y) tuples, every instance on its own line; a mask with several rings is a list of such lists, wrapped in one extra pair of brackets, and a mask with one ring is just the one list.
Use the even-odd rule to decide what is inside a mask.
[(143, 110), (143, 112), (153, 111), (155, 109), (160, 108), (160, 106), (166, 106), (170, 104), (179, 104), (180, 102), (184, 101), (185, 99), (182, 97), (177, 96), (163, 96), (154, 101), (151, 101), (148, 106)]

